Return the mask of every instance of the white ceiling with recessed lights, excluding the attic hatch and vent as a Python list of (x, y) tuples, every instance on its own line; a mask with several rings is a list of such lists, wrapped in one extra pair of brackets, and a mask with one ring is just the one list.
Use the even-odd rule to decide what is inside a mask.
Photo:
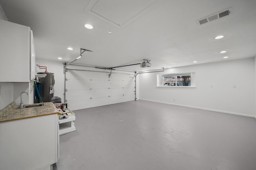
[[(98, 0), (94, 10), (107, 20), (121, 24), (129, 20), (119, 28), (90, 14), (86, 10), (90, 2), (0, 0), (9, 21), (33, 30), (39, 59), (58, 61), (62, 57), (61, 62), (70, 62), (84, 48), (93, 52), (85, 52), (76, 63), (114, 67), (149, 59), (150, 69), (154, 69), (256, 56), (256, 0), (161, 0), (150, 8), (156, 0)], [(230, 7), (232, 15), (228, 17), (196, 23)], [(86, 29), (85, 23), (94, 29)], [(224, 38), (215, 40), (217, 35)], [(223, 50), (227, 53), (220, 54)], [(144, 70), (138, 65), (122, 69)]]

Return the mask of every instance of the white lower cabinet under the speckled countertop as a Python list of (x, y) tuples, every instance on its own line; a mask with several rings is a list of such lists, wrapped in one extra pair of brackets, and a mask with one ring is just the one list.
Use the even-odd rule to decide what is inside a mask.
[(50, 170), (58, 139), (57, 114), (0, 123), (0, 169)]

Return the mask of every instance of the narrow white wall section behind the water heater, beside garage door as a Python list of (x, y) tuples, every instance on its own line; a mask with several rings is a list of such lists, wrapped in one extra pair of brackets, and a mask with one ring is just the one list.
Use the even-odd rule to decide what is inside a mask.
[[(36, 59), (36, 64), (40, 66), (46, 66), (47, 72), (54, 73), (54, 96), (59, 96), (64, 102), (64, 74), (63, 74), (63, 64), (64, 62)], [(39, 69), (36, 67), (36, 72), (44, 72), (44, 69)]]

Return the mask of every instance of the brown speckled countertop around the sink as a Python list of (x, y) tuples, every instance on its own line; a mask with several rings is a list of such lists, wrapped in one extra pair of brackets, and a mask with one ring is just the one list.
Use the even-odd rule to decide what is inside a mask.
[(44, 106), (22, 109), (20, 108), (20, 105), (16, 105), (15, 102), (12, 102), (4, 109), (0, 110), (0, 123), (52, 114), (58, 114), (58, 109), (52, 102), (46, 102), (44, 103)]

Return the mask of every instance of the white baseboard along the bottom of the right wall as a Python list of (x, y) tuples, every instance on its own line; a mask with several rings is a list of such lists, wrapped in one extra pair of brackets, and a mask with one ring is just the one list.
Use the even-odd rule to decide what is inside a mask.
[(226, 114), (231, 114), (231, 115), (239, 115), (239, 116), (246, 116), (246, 117), (254, 117), (254, 118), (256, 118), (256, 116), (254, 116), (254, 115), (247, 115), (247, 114), (243, 114), (243, 113), (235, 113), (235, 112), (230, 112), (230, 111), (207, 109), (207, 108), (202, 108), (202, 107), (186, 106), (186, 105), (181, 105), (181, 104), (173, 104), (173, 103), (167, 103), (167, 102), (158, 102), (158, 101), (146, 100), (146, 99), (137, 99), (137, 100), (144, 100), (144, 101), (148, 101), (148, 102), (156, 102), (156, 103), (169, 104), (169, 105), (174, 105), (174, 106), (189, 107), (189, 108), (193, 108), (193, 109), (201, 109), (201, 110), (215, 111), (215, 112), (226, 113)]

